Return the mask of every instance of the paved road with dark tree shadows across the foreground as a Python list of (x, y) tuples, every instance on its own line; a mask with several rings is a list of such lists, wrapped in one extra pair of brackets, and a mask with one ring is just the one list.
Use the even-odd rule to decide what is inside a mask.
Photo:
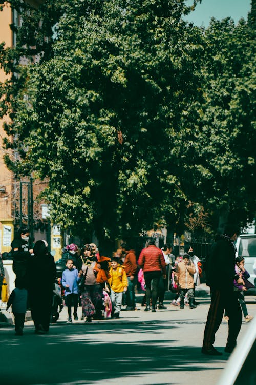
[[(256, 316), (256, 302), (250, 299), (249, 314)], [(229, 355), (201, 354), (209, 299), (200, 301), (197, 309), (180, 310), (166, 301), (167, 310), (146, 313), (139, 307), (122, 311), (119, 320), (91, 324), (66, 324), (64, 309), (42, 336), (34, 334), (31, 321), (22, 337), (14, 336), (13, 326), (2, 325), (1, 384), (214, 385)], [(247, 327), (243, 322), (239, 341)], [(215, 343), (221, 351), (226, 336), (223, 323)]]

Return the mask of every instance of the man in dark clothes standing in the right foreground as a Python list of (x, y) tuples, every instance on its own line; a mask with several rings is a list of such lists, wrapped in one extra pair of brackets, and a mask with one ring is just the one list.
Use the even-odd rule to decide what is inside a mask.
[(211, 356), (222, 355), (213, 344), (224, 309), (229, 316), (226, 353), (231, 353), (236, 346), (242, 324), (241, 307), (233, 290), (234, 279), (238, 283), (242, 281), (234, 271), (236, 254), (234, 242), (237, 240), (237, 231), (233, 226), (227, 226), (224, 233), (212, 245), (206, 262), (206, 283), (210, 286), (211, 304), (204, 330), (202, 353)]

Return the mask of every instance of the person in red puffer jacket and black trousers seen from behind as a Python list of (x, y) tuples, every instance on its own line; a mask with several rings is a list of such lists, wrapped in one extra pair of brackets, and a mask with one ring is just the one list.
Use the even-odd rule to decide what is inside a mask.
[(157, 288), (161, 275), (166, 278), (166, 266), (162, 250), (156, 247), (156, 241), (149, 238), (146, 241), (145, 248), (142, 249), (138, 264), (143, 268), (146, 283), (146, 308), (145, 312), (150, 310), (150, 297), (152, 288), (152, 312), (156, 311)]

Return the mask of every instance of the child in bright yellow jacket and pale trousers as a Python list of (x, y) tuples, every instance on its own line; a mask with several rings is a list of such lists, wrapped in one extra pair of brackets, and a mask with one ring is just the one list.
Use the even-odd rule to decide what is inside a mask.
[(116, 259), (111, 260), (110, 276), (109, 285), (113, 309), (112, 316), (119, 318), (123, 293), (127, 290), (128, 280), (124, 268), (120, 266)]

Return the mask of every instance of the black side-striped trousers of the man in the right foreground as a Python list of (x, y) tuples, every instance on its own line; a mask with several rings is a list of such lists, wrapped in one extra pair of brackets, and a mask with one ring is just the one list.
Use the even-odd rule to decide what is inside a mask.
[(215, 333), (220, 327), (224, 309), (229, 317), (227, 345), (231, 348), (236, 345), (242, 324), (242, 311), (237, 294), (233, 288), (215, 289), (211, 290), (211, 304), (204, 330), (203, 348), (209, 349), (214, 344)]

